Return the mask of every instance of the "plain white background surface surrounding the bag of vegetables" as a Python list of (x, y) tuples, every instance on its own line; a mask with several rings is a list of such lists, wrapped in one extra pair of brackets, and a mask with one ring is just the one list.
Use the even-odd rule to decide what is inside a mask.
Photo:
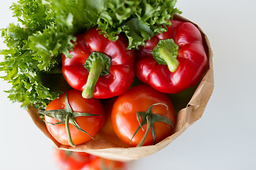
[[(16, 22), (14, 0), (0, 0), (0, 28)], [(197, 23), (213, 48), (215, 89), (203, 117), (168, 147), (128, 164), (140, 169), (256, 169), (256, 2), (179, 0), (182, 16)], [(1, 39), (1, 48), (4, 45)], [(53, 143), (0, 83), (0, 169), (57, 169)]]

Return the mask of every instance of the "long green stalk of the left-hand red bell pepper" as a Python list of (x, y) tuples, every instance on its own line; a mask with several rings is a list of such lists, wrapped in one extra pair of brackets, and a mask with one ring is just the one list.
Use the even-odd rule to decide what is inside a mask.
[(90, 69), (87, 82), (85, 84), (85, 89), (82, 91), (83, 98), (92, 98), (94, 96), (95, 85), (104, 67), (105, 66), (102, 62), (97, 62), (97, 61), (92, 62), (92, 67)]

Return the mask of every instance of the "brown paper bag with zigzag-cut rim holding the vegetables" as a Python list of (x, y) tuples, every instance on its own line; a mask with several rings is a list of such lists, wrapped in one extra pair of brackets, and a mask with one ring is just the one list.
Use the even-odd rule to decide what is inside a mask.
[[(175, 15), (174, 19), (179, 21), (188, 21), (186, 18), (183, 18), (179, 15)], [(192, 23), (192, 22), (191, 22)], [(58, 143), (48, 132), (45, 123), (39, 118), (38, 111), (35, 108), (28, 108), (28, 113), (31, 115), (33, 122), (36, 126), (41, 129), (41, 131), (52, 140), (56, 147), (60, 149), (69, 149), (77, 152), (87, 152), (89, 154), (94, 154), (100, 157), (108, 159), (116, 159), (119, 161), (129, 161), (133, 159), (139, 159), (146, 157), (150, 154), (154, 154), (159, 150), (163, 149), (169, 145), (173, 140), (176, 139), (181, 133), (183, 133), (190, 125), (196, 122), (203, 115), (203, 111), (206, 108), (206, 104), (210, 98), (210, 95), (213, 92), (214, 80), (213, 80), (213, 52), (210, 48), (210, 42), (206, 35), (203, 33), (203, 30), (199, 28), (195, 23), (193, 23), (202, 33), (203, 39), (206, 43), (206, 50), (208, 50), (208, 60), (209, 60), (209, 69), (206, 72), (205, 76), (198, 84), (196, 91), (194, 91), (193, 96), (185, 103), (177, 115), (176, 128), (174, 134), (166, 137), (165, 140), (157, 143), (156, 145), (146, 146), (146, 147), (129, 147), (118, 140), (117, 136), (112, 134), (106, 134), (106, 132), (101, 131), (96, 135), (94, 140), (85, 142), (82, 145), (76, 147), (68, 147)], [(107, 117), (107, 116), (106, 116)], [(110, 116), (108, 116), (110, 117)], [(108, 123), (110, 124), (110, 121)]]

